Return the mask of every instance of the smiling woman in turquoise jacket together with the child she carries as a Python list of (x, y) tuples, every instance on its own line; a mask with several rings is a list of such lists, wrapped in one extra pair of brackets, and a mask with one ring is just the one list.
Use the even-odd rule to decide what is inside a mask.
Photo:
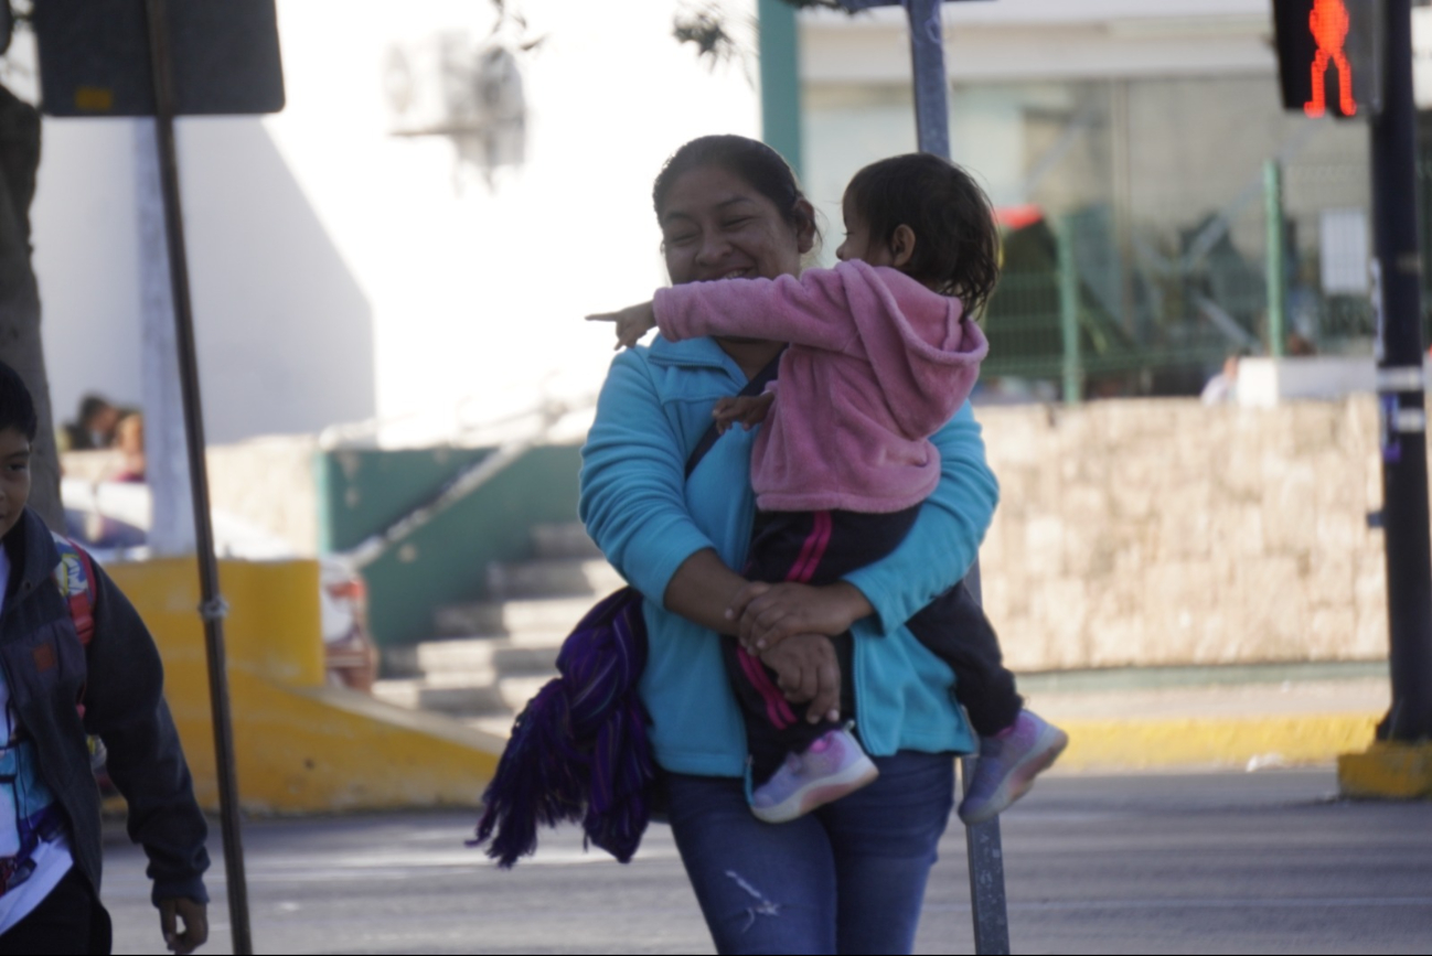
[[(957, 587), (998, 488), (964, 402), (984, 339), (951, 293), (988, 295), (997, 238), (978, 187), (931, 162), (939, 166), (884, 179), (925, 176), (921, 202), (948, 215), (912, 228), (914, 212), (879, 208), (899, 202), (899, 189), (879, 176), (852, 183), (841, 252), (851, 262), (806, 282), (798, 276), (816, 226), (789, 166), (745, 137), (693, 140), (653, 190), (677, 288), (654, 313), (647, 303), (609, 316), (629, 345), (652, 321), (663, 336), (613, 362), (583, 452), (581, 515), (647, 598), (640, 697), (677, 847), (723, 953), (912, 949), (954, 806), (951, 753), (975, 746), (951, 694), (957, 678), (994, 757), (982, 761), (994, 773), (985, 796), (961, 807), (967, 819), (1008, 806), (1063, 747), (1063, 734), (1021, 710), (994, 633)], [(886, 229), (891, 216), (898, 228)], [(984, 263), (988, 281), (931, 282), (921, 273), (929, 252)], [(775, 282), (687, 289), (717, 279)], [(895, 392), (912, 408), (862, 389), (853, 366), (805, 355), (851, 356), (856, 341), (859, 361), (904, 382)], [(769, 399), (729, 399), (778, 361), (809, 421), (790, 412), (785, 438), (775, 414), (762, 429), (730, 429), (687, 475), (717, 404), (727, 421), (765, 416)], [(829, 408), (812, 389), (826, 389)], [(905, 436), (878, 438), (882, 425)], [(821, 455), (823, 465), (809, 461)], [(882, 462), (896, 475), (892, 494)], [(821, 487), (792, 488), (793, 475)], [(839, 489), (852, 482), (853, 492)], [(762, 577), (776, 584), (750, 582)], [(944, 634), (957, 630), (959, 640)]]

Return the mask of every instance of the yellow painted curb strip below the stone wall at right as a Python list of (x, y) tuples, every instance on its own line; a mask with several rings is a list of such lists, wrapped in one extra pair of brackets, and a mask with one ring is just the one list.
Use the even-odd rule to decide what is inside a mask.
[(1373, 736), (1375, 714), (1270, 714), (1156, 720), (1058, 720), (1070, 736), (1061, 770), (1332, 761)]

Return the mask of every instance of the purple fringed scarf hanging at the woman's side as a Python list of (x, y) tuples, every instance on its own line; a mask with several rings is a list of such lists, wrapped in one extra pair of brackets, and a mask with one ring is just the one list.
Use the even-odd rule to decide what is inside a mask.
[[(642, 843), (656, 764), (636, 683), (646, 620), (633, 588), (603, 598), (561, 644), (557, 670), (513, 724), (477, 824), (487, 856), (511, 867), (537, 849), (537, 826), (581, 821), (587, 842), (621, 863)], [(494, 836), (495, 834), (495, 836)]]

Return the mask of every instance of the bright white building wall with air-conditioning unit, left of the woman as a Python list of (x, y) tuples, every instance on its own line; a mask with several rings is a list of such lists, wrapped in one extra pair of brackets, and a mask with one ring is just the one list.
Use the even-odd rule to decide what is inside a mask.
[[(600, 385), (610, 329), (581, 316), (664, 282), (652, 179), (687, 139), (758, 135), (758, 90), (676, 43), (677, 0), (524, 7), (547, 37), (524, 60), (527, 163), (491, 190), (455, 183), (447, 140), (390, 136), (384, 97), (392, 44), (480, 39), (481, 0), (279, 0), (288, 107), (180, 120), (213, 441), (375, 414), (440, 434), (458, 405), (497, 418)], [(34, 243), (56, 408), (87, 391), (137, 402), (129, 122), (47, 120), (44, 136)]]

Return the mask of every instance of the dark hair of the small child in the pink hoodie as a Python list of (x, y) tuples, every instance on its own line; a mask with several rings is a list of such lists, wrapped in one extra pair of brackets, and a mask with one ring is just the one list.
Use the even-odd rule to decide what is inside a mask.
[(911, 228), (908, 276), (958, 296), (967, 315), (990, 301), (1000, 281), (1000, 229), (990, 197), (964, 169), (932, 153), (892, 156), (855, 173), (845, 196), (871, 242), (889, 245), (895, 229)]

